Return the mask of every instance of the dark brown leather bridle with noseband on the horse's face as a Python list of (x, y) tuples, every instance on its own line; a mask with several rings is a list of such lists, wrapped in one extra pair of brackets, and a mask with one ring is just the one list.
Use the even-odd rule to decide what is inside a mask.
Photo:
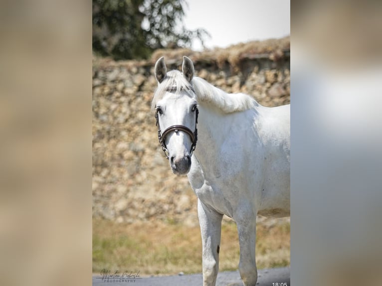
[(196, 115), (195, 115), (195, 131), (194, 132), (192, 132), (190, 128), (188, 128), (188, 127), (186, 127), (184, 125), (172, 125), (169, 128), (167, 128), (163, 133), (161, 132), (161, 127), (159, 126), (159, 114), (158, 114), (158, 110), (155, 112), (155, 119), (157, 120), (156, 126), (158, 126), (158, 140), (159, 140), (159, 143), (162, 146), (162, 150), (165, 152), (166, 158), (169, 158), (169, 150), (167, 149), (167, 146), (166, 146), (166, 136), (170, 132), (173, 132), (173, 131), (175, 133), (178, 133), (178, 131), (183, 131), (183, 132), (187, 133), (190, 136), (191, 142), (192, 142), (191, 150), (190, 150), (190, 156), (192, 156), (192, 152), (195, 150), (196, 142), (197, 142), (197, 128), (196, 128), (196, 124), (197, 124), (197, 117), (199, 115), (199, 110), (197, 109), (196, 106), (195, 106), (195, 112), (196, 112)]

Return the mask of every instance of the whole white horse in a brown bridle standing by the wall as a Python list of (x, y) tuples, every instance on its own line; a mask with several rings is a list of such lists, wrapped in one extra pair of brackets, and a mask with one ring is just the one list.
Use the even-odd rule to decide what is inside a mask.
[(182, 71), (157, 61), (152, 107), (173, 172), (188, 175), (198, 198), (203, 285), (216, 283), (225, 214), (237, 224), (241, 279), (254, 286), (256, 215), (290, 215), (290, 105), (267, 108), (227, 94), (194, 77), (188, 57)]

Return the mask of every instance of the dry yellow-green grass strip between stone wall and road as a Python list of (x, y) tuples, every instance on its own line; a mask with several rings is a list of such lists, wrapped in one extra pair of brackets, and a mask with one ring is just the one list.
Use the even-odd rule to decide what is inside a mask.
[[(257, 225), (259, 269), (288, 266), (290, 224)], [(236, 270), (239, 243), (236, 224), (223, 221), (219, 271)], [(93, 272), (140, 271), (141, 276), (201, 272), (199, 227), (164, 222), (115, 223), (93, 219)]]

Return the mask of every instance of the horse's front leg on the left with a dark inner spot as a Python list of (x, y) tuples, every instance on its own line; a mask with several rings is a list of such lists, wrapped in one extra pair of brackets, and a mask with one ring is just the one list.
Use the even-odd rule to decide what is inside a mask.
[(215, 286), (219, 271), (219, 248), (223, 215), (211, 210), (199, 199), (197, 200), (197, 214), (202, 243), (203, 286)]

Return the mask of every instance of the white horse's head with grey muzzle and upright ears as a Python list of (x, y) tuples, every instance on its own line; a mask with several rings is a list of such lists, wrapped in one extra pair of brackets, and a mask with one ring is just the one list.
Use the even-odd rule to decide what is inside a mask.
[(155, 103), (158, 137), (175, 174), (187, 174), (197, 141), (197, 102), (192, 87), (194, 74), (192, 61), (183, 57), (182, 72), (167, 72), (161, 57), (155, 64), (158, 81)]

